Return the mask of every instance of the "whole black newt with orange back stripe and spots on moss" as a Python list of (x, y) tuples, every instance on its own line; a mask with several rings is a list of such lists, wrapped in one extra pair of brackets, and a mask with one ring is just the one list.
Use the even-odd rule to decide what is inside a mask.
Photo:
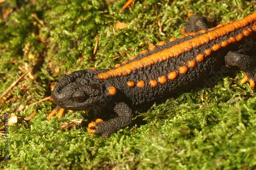
[[(133, 109), (172, 97), (177, 91), (197, 85), (222, 66), (238, 66), (255, 86), (256, 13), (234, 22), (208, 28), (207, 19), (189, 13), (183, 36), (152, 45), (110, 69), (91, 67), (62, 75), (52, 91), (57, 107), (88, 110), (106, 107), (118, 117), (97, 119), (88, 125), (91, 134), (108, 137), (132, 123)], [(49, 115), (49, 119), (54, 113)]]

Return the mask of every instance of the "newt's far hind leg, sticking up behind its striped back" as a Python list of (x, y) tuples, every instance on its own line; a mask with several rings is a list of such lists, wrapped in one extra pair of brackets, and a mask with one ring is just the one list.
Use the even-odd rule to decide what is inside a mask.
[(187, 16), (190, 18), (187, 21), (187, 25), (183, 26), (181, 29), (183, 35), (208, 29), (208, 21), (205, 17), (192, 13), (188, 13)]

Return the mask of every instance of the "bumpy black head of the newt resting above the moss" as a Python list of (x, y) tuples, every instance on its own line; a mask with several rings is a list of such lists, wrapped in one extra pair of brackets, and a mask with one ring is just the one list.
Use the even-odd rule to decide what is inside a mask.
[(109, 91), (88, 70), (62, 75), (52, 91), (52, 99), (61, 108), (87, 110), (108, 98)]

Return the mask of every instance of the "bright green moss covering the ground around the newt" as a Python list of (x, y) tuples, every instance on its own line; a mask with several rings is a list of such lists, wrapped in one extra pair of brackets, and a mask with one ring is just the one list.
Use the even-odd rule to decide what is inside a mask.
[[(24, 73), (18, 66), (33, 68), (42, 61), (33, 73), (36, 79), (19, 82), (0, 106), (2, 116), (15, 113), (21, 117), (8, 129), (8, 166), (3, 161), (5, 143), (0, 142), (1, 167), (254, 169), (255, 90), (240, 83), (244, 73), (236, 69), (230, 69), (208, 88), (202, 85), (199, 91), (180, 93), (146, 112), (139, 111), (133, 126), (108, 139), (87, 132), (87, 119), (94, 117), (90, 112), (67, 112), (65, 117), (53, 117), (47, 123), (47, 114), (55, 107), (53, 102), (29, 106), (51, 95), (51, 84), (65, 72), (91, 66), (109, 68), (161, 40), (181, 36), (187, 9), (206, 16), (212, 25), (242, 18), (255, 10), (253, 2), (240, 0), (135, 1), (119, 13), (125, 2), (106, 5), (105, 1), (94, 0), (38, 0), (1, 4), (1, 14), (8, 8), (10, 13), (0, 18), (0, 93)], [(115, 31), (117, 20), (127, 23), (128, 28)], [(96, 39), (99, 43), (93, 54)], [(35, 109), (37, 113), (30, 122), (23, 120)], [(85, 125), (60, 129), (62, 123), (78, 118), (85, 118)]]

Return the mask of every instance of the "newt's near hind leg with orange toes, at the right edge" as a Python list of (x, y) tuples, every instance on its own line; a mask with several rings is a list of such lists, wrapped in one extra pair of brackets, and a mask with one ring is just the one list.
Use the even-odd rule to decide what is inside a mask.
[(245, 78), (242, 79), (241, 83), (249, 81), (251, 88), (255, 86), (256, 82), (256, 60), (248, 55), (239, 54), (238, 52), (228, 52), (225, 56), (226, 65), (238, 66), (242, 71), (245, 72)]

